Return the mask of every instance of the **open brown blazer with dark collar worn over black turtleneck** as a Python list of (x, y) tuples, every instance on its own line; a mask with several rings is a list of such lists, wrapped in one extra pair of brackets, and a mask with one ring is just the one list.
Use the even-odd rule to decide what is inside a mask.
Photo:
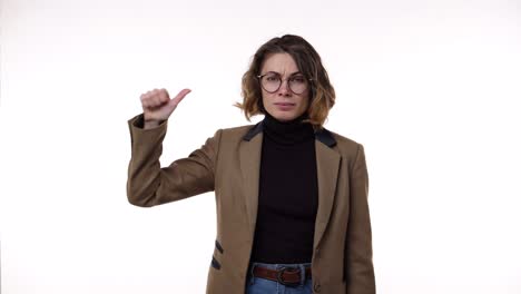
[[(199, 149), (163, 168), (159, 157), (167, 121), (142, 129), (139, 115), (128, 125), (128, 200), (149, 207), (214, 190), (217, 236), (206, 293), (244, 294), (257, 214), (263, 124), (218, 129)], [(364, 148), (326, 129), (316, 131), (315, 138), (314, 293), (374, 294)]]

